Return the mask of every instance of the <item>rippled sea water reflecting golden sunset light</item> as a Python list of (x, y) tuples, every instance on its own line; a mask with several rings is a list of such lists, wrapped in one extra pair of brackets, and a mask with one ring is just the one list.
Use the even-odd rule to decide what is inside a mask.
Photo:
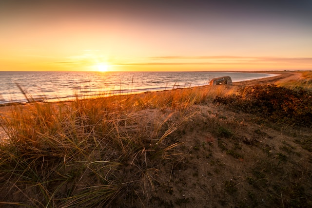
[(0, 104), (71, 100), (79, 96), (124, 95), (209, 84), (219, 76), (233, 82), (272, 74), (234, 72), (0, 72)]

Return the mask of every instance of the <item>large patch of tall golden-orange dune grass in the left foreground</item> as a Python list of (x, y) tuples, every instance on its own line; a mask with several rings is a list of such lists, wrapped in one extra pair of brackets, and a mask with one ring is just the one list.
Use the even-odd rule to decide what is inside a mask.
[[(172, 134), (192, 120), (195, 103), (225, 94), (225, 88), (12, 106), (10, 116), (1, 117), (8, 135), (0, 145), (1, 204), (144, 204), (159, 183), (157, 173), (176, 154)], [(144, 114), (147, 109), (153, 116)]]

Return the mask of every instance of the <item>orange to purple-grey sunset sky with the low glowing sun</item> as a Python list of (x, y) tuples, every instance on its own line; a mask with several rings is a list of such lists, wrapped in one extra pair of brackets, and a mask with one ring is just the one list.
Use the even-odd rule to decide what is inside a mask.
[(312, 0), (1, 0), (0, 71), (312, 70)]

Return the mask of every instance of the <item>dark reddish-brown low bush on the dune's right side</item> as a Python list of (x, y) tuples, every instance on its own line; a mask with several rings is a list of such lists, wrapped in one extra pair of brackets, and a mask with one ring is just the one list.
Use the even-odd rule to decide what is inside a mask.
[(240, 89), (237, 95), (217, 96), (214, 102), (274, 122), (312, 126), (312, 92), (302, 88), (255, 85)]

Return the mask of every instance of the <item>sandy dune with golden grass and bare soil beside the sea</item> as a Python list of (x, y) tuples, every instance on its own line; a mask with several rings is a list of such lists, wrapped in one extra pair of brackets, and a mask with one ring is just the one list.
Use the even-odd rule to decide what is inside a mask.
[(303, 79), (301, 72), (265, 73), (277, 76), (1, 106), (1, 125), (11, 125), (8, 132), (16, 137), (9, 142), (15, 146), (1, 144), (0, 202), (11, 207), (311, 207), (308, 122), (298, 125), (222, 103), (248, 86)]

